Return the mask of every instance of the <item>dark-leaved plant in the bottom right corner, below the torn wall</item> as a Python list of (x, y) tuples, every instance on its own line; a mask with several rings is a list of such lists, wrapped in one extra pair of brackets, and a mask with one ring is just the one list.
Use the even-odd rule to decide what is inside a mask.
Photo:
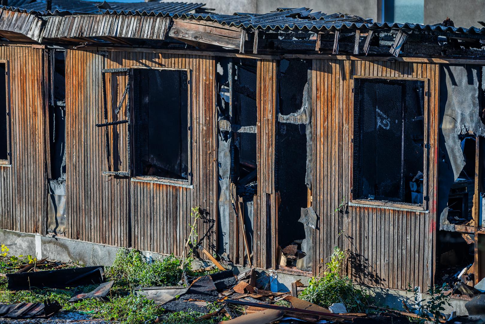
[[(421, 293), (418, 287), (415, 287), (413, 289), (411, 285), (408, 284), (408, 286), (409, 289), (407, 291), (413, 293), (414, 301), (418, 306), (417, 308), (412, 308), (412, 310), (417, 311), (418, 315), (425, 318), (427, 321), (440, 323), (439, 319), (441, 317), (441, 311), (445, 310), (444, 306), (451, 306), (450, 302), (447, 299), (447, 297), (451, 295), (451, 292), (445, 293), (445, 290), (447, 290), (447, 285), (436, 285), (426, 290), (426, 293), (430, 295), (430, 299), (428, 300), (421, 298)], [(434, 316), (434, 318), (431, 318), (431, 316)], [(419, 320), (419, 323), (425, 323), (426, 320)]]

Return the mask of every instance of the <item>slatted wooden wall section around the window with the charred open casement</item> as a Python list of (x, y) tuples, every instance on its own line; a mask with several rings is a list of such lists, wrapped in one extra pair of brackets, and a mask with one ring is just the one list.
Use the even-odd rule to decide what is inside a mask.
[[(191, 77), (192, 188), (102, 175), (108, 170), (103, 123), (103, 68), (183, 68)], [(181, 255), (190, 232), (191, 208), (204, 218), (197, 232), (215, 252), (217, 221), (217, 134), (215, 60), (200, 55), (142, 51), (69, 50), (66, 55), (67, 236), (116, 246)], [(111, 83), (112, 85), (113, 83)], [(119, 88), (108, 89), (115, 96)], [(123, 108), (123, 109), (126, 109)], [(123, 112), (122, 112), (123, 114)], [(110, 120), (122, 117), (111, 116)], [(126, 161), (127, 124), (110, 132), (110, 143)], [(115, 143), (117, 142), (117, 144)], [(112, 163), (112, 162), (110, 162)]]

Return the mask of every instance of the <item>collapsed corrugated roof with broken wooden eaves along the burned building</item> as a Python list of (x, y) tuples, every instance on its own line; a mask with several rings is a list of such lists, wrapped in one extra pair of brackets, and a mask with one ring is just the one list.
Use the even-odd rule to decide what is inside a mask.
[[(83, 14), (2, 7), (0, 34), (7, 40), (44, 44), (106, 43), (274, 55), (485, 57), (485, 28), (457, 28), (450, 19), (420, 25), (374, 23), (372, 19), (327, 15), (305, 7), (234, 15), (146, 11), (143, 4), (136, 8), (110, 2), (98, 6), (100, 14)], [(173, 8), (178, 7), (174, 4)], [(191, 8), (189, 4), (182, 6)]]

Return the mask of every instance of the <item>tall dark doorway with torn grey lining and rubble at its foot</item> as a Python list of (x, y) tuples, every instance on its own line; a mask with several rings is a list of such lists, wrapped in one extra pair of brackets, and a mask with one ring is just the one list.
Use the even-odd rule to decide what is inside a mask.
[(300, 222), (308, 207), (307, 135), (311, 136), (309, 80), (311, 61), (280, 61), (275, 170), (276, 191), (280, 196), (277, 209), (279, 269), (311, 271), (312, 229)]

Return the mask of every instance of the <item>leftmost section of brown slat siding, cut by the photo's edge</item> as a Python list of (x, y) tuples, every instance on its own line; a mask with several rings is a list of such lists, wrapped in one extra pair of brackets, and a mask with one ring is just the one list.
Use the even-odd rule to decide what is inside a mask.
[(10, 101), (11, 167), (0, 166), (2, 229), (42, 233), (47, 204), (44, 133), (43, 52), (30, 47), (2, 46)]

